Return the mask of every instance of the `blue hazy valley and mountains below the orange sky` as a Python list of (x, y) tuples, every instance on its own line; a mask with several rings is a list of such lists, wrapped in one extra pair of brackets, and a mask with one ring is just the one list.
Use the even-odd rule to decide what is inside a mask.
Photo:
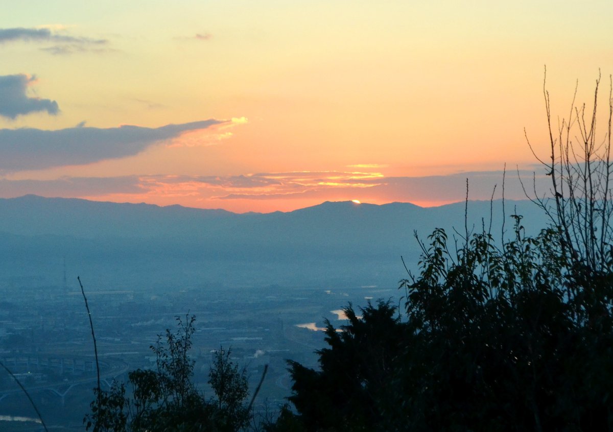
[[(470, 227), (481, 229), (490, 205), (493, 226), (501, 227), (501, 201), (469, 202)], [(505, 208), (507, 230), (514, 209), (528, 227), (544, 222), (530, 202)], [(276, 407), (291, 385), (285, 360), (316, 366), (324, 319), (342, 325), (338, 311), (350, 302), (401, 301), (398, 281), (407, 275), (400, 256), (416, 270), (420, 254), (413, 230), (424, 240), (435, 227), (453, 233), (464, 213), (465, 203), (326, 202), (235, 214), (34, 195), (0, 199), (0, 357), (19, 373), (26, 363), (36, 369), (26, 384), (48, 423), (82, 429), (94, 372), (80, 276), (109, 380), (151, 368), (150, 345), (189, 313), (197, 317), (195, 381), (205, 394), (211, 351), (232, 347), (251, 388), (269, 365), (258, 409), (265, 401)], [(2, 412), (31, 417), (15, 384), (2, 383)]]

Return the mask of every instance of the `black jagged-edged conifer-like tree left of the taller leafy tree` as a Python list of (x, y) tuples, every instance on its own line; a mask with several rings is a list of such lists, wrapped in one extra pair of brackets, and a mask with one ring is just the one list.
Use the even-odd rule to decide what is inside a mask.
[(345, 308), (349, 324), (337, 332), (327, 322), (329, 348), (319, 351), (320, 371), (297, 362), (291, 366), (294, 394), (289, 400), (309, 430), (371, 430), (381, 422), (392, 362), (400, 354), (403, 327), (395, 308), (380, 301), (360, 309)]

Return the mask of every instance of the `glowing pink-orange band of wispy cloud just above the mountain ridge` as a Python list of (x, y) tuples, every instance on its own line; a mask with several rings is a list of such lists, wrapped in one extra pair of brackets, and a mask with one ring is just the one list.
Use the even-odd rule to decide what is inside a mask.
[[(61, 177), (55, 180), (0, 180), (0, 196), (37, 194), (47, 197), (80, 197), (97, 200), (148, 202), (161, 205), (180, 203), (188, 207), (253, 210), (314, 205), (326, 200), (359, 199), (362, 202), (413, 202), (431, 206), (462, 201), (465, 179), (469, 198), (489, 200), (495, 184), (495, 199), (501, 197), (503, 173), (467, 172), (444, 176), (383, 177), (378, 173), (289, 172), (234, 176), (129, 175), (116, 177)], [(533, 174), (519, 175), (532, 188)], [(536, 190), (548, 191), (545, 175), (537, 175)], [(525, 199), (517, 173), (507, 173), (507, 199)], [(265, 202), (270, 202), (266, 205)], [(292, 204), (293, 203), (293, 204)], [(410, 221), (407, 221), (410, 223)]]

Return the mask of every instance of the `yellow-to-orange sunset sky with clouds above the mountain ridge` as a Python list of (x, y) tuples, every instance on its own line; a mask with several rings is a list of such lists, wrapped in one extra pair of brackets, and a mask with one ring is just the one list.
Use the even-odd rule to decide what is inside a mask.
[(431, 206), (500, 197), (506, 167), (521, 199), (518, 173), (547, 191), (545, 66), (555, 122), (613, 73), (609, 0), (0, 6), (5, 198)]

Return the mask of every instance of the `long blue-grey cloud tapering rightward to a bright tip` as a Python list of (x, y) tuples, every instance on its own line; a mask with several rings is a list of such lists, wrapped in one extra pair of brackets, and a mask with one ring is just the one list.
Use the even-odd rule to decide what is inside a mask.
[(157, 128), (120, 126), (99, 129), (77, 126), (58, 131), (0, 129), (0, 169), (45, 169), (133, 156), (183, 132), (207, 129), (221, 123), (225, 122), (208, 119)]

